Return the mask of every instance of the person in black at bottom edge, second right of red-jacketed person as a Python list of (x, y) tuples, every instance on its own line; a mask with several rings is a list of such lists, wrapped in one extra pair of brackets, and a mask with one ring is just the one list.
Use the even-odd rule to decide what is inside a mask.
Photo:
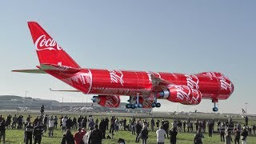
[(98, 130), (98, 125), (94, 125), (91, 131), (88, 144), (102, 144), (102, 131)]

